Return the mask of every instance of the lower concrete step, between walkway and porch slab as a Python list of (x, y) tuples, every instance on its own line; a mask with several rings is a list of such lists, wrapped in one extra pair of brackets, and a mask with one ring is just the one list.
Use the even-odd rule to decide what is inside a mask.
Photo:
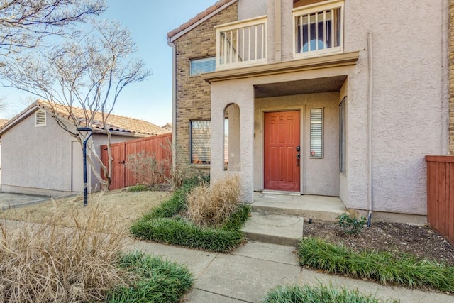
[(264, 214), (253, 211), (243, 232), (246, 238), (262, 243), (296, 246), (303, 236), (303, 217)]

